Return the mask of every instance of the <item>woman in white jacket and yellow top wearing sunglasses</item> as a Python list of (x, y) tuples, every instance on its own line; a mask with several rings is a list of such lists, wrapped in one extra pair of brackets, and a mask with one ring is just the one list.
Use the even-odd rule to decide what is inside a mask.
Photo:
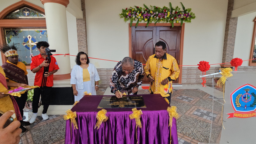
[(85, 52), (78, 52), (70, 79), (75, 101), (82, 99), (85, 91), (96, 95), (96, 91), (99, 90), (99, 80), (97, 69), (90, 63), (88, 55)]

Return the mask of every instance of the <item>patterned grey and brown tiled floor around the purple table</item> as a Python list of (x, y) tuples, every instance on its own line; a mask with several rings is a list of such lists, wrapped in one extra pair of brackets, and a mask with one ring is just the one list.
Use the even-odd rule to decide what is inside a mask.
[[(100, 87), (97, 95), (103, 95), (107, 87)], [(177, 107), (180, 117), (177, 119), (179, 144), (197, 144), (198, 142), (219, 143), (221, 135), (221, 109), (223, 99), (221, 88), (187, 85), (174, 87), (171, 105)], [(139, 90), (138, 94), (148, 94), (148, 90)], [(214, 99), (212, 99), (212, 97)], [(213, 104), (213, 105), (212, 105)], [(213, 106), (213, 108), (212, 108)], [(31, 110), (29, 119), (31, 117)], [(35, 123), (26, 126), (20, 144), (64, 143), (65, 125), (63, 115), (49, 115), (48, 120), (37, 116)]]

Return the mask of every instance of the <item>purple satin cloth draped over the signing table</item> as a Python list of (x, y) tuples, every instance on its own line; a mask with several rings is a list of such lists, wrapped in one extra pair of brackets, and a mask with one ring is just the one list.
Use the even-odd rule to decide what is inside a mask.
[[(137, 127), (135, 119), (130, 119), (132, 108), (105, 108), (108, 120), (100, 128), (94, 129), (97, 123), (97, 108), (103, 96), (84, 96), (71, 110), (76, 111), (78, 129), (74, 130), (70, 120), (66, 121), (66, 144), (136, 144), (136, 131), (139, 144), (170, 143), (169, 115), (164, 98), (160, 94), (142, 95), (147, 108), (142, 111)], [(172, 144), (178, 144), (176, 119), (172, 119)]]

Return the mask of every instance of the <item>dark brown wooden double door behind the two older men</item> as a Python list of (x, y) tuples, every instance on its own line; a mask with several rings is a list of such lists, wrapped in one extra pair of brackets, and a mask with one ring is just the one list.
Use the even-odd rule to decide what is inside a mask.
[[(166, 53), (172, 55), (180, 65), (180, 33), (181, 27), (132, 27), (132, 58), (146, 64), (148, 57), (155, 53), (155, 44), (163, 41), (166, 44)], [(143, 68), (145, 65), (143, 65)], [(143, 84), (148, 84), (148, 78), (144, 76)], [(178, 79), (173, 83), (178, 83)]]

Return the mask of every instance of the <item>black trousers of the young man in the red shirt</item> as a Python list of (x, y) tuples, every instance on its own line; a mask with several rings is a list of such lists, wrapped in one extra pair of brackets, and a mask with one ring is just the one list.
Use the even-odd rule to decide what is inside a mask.
[(47, 112), (47, 109), (50, 104), (50, 91), (52, 87), (44, 86), (44, 87), (37, 87), (34, 89), (34, 96), (33, 96), (33, 102), (32, 102), (32, 112), (37, 113), (38, 111), (38, 103), (41, 95), (42, 105), (44, 105), (44, 110), (42, 114), (45, 114)]

